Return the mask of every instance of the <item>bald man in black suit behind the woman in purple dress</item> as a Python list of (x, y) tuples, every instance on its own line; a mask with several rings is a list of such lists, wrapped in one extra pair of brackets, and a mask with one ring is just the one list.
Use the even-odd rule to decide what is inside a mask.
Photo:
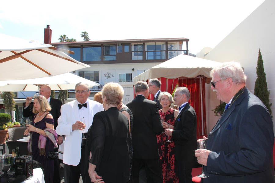
[[(50, 106), (51, 106), (51, 111), (50, 113), (53, 115), (53, 121), (54, 121), (54, 129), (56, 129), (57, 127), (57, 119), (60, 117), (61, 113), (60, 113), (60, 108), (62, 105), (61, 100), (59, 99), (53, 99), (51, 98), (51, 88), (47, 85), (43, 85), (40, 88), (39, 91), (40, 95), (43, 95), (44, 97), (46, 97), (46, 99), (48, 100)], [(27, 97), (26, 99), (26, 104), (25, 107), (23, 109), (23, 117), (34, 117), (34, 113), (32, 112), (33, 109), (33, 102), (31, 102), (32, 97)], [(57, 145), (60, 145), (63, 143), (63, 137), (58, 135), (57, 137)], [(55, 149), (55, 151), (58, 151), (58, 148)], [(54, 162), (54, 183), (60, 183), (60, 173), (59, 173), (59, 163), (58, 161)]]

